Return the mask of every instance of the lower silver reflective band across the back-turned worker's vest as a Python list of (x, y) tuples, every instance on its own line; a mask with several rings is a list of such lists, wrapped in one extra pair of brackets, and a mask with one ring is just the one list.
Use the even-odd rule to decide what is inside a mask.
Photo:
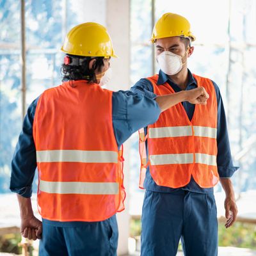
[(117, 195), (117, 182), (52, 182), (40, 180), (40, 191), (57, 194)]

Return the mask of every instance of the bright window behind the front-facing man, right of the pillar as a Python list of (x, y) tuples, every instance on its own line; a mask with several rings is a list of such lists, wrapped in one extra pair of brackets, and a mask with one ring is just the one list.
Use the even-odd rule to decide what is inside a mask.
[[(196, 36), (189, 69), (220, 87), (234, 164), (240, 166), (232, 179), (236, 191), (256, 189), (255, 1), (131, 1), (132, 85), (142, 77), (152, 76), (154, 65), (156, 72), (159, 70), (149, 39), (153, 24), (166, 12), (186, 17)], [(134, 188), (138, 188), (140, 167), (140, 160), (134, 156), (138, 156), (138, 134), (132, 137), (131, 206), (142, 204), (143, 198), (143, 192)], [(220, 191), (220, 185), (215, 189)], [(140, 214), (132, 209), (131, 214)]]

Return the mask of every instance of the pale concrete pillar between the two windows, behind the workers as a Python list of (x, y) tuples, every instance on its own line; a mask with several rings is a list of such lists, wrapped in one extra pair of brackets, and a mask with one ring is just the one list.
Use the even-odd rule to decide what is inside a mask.
[[(80, 22), (99, 22), (106, 26), (118, 58), (111, 58), (113, 77), (106, 88), (130, 88), (130, 1), (129, 0), (74, 0), (72, 10)], [(68, 28), (69, 29), (69, 28)], [(118, 255), (128, 253), (129, 237), (129, 142), (124, 145), (125, 211), (117, 214), (119, 227)]]

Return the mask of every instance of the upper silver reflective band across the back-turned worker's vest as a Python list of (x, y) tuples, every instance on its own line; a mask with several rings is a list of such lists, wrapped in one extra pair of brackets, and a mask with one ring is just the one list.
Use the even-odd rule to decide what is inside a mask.
[(39, 163), (117, 163), (118, 153), (115, 151), (40, 150), (36, 151), (36, 161)]

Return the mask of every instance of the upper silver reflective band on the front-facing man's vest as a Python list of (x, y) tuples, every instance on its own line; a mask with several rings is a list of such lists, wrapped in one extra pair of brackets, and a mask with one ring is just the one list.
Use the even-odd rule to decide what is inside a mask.
[[(193, 126), (195, 136), (216, 138), (217, 129), (204, 126)], [(175, 127), (159, 127), (148, 129), (148, 138), (167, 138), (167, 137), (182, 137), (192, 136), (192, 127), (187, 126), (175, 126)]]

